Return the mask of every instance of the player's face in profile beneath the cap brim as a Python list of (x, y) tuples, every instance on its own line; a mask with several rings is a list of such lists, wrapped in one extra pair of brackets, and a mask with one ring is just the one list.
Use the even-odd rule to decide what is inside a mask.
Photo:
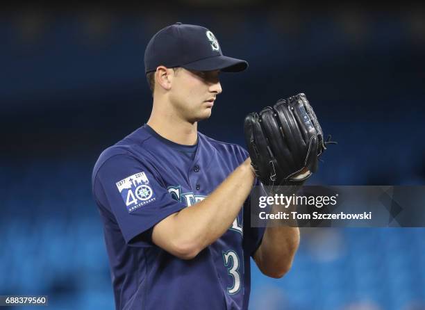
[(219, 70), (200, 72), (181, 68), (173, 76), (169, 98), (177, 113), (193, 123), (210, 117), (221, 92)]

